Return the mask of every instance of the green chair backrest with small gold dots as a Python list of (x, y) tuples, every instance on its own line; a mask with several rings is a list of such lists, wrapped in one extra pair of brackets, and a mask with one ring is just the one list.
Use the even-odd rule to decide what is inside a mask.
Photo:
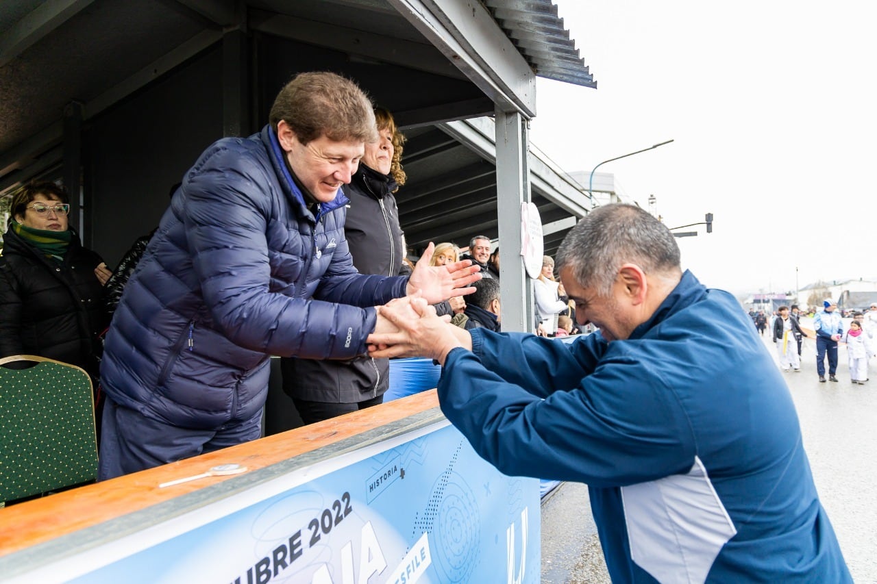
[[(24, 367), (28, 361), (33, 367)], [(91, 378), (37, 357), (0, 359), (0, 501), (39, 495), (97, 475)]]

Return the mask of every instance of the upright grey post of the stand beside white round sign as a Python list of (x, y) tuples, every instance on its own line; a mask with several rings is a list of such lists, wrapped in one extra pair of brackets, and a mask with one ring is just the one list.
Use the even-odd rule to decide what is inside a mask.
[(530, 203), (527, 121), (496, 109), (496, 216), (499, 219), (503, 331), (533, 331), (533, 287), (521, 259), (521, 204)]

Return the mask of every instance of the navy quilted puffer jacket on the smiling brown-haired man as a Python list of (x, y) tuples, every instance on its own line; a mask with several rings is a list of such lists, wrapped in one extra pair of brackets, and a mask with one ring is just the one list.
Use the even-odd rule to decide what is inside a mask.
[(246, 420), (265, 403), (268, 357), (365, 353), (375, 305), (408, 278), (359, 274), (346, 196), (308, 210), (276, 134), (221, 139), (189, 169), (107, 334), (107, 395), (192, 429)]

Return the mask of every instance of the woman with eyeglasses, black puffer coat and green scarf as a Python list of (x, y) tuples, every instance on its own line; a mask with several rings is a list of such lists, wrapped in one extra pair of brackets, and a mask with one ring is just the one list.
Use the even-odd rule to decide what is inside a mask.
[(68, 225), (67, 194), (52, 182), (13, 196), (0, 256), (0, 357), (64, 361), (96, 381), (97, 334), (106, 326), (103, 284), (110, 270)]

